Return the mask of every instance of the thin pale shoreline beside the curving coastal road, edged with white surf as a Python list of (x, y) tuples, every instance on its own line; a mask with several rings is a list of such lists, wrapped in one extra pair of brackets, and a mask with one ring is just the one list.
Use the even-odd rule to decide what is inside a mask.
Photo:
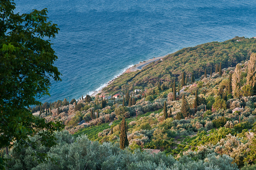
[[(95, 91), (92, 91), (93, 93), (90, 95), (90, 96), (93, 96), (95, 97), (97, 94), (101, 93), (102, 92), (102, 89), (107, 87), (109, 84), (111, 84), (114, 80), (116, 80), (116, 78), (120, 77), (121, 75), (123, 75), (124, 73), (130, 73), (130, 72), (135, 72), (137, 70), (141, 70), (144, 66), (147, 66), (148, 64), (152, 63), (152, 62), (155, 62), (155, 60), (160, 60), (161, 58), (164, 58), (166, 56), (168, 56), (169, 54), (165, 55), (165, 56), (161, 56), (161, 57), (154, 57), (154, 58), (150, 58), (148, 60), (145, 60), (145, 62), (139, 62), (138, 64), (135, 64), (135, 65), (132, 65), (128, 68), (126, 68), (121, 74), (117, 75), (114, 79), (108, 81), (107, 83), (103, 84), (101, 87), (99, 87), (98, 89), (99, 90), (95, 90)], [(138, 67), (140, 67), (141, 65), (144, 65), (141, 67), (141, 69), (139, 69)]]

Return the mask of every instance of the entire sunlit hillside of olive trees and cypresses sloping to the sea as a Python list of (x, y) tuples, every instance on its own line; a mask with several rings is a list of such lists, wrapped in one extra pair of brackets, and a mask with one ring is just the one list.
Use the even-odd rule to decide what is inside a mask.
[[(130, 77), (128, 83), (122, 84), (122, 90), (113, 91), (123, 91), (117, 98), (86, 96), (72, 99), (70, 103), (66, 99), (50, 105), (45, 103), (39, 117), (45, 121), (61, 120), (66, 125), (66, 130), (55, 134), (57, 146), (45, 147), (38, 143), (40, 151), (47, 152), (49, 159), (56, 161), (58, 166), (52, 162), (38, 164), (36, 160), (40, 158), (33, 155), (31, 149), (15, 145), (15, 150), (10, 151), (12, 159), (6, 156), (10, 158), (6, 169), (255, 169), (255, 39), (237, 37), (215, 42), (223, 48), (222, 52), (224, 46), (232, 43), (233, 46), (220, 55), (217, 55), (217, 45), (206, 50), (214, 43), (196, 46), (194, 50), (182, 49), (183, 55), (195, 58), (193, 61), (187, 58), (186, 64), (180, 62), (181, 67), (176, 68), (175, 62), (169, 61), (169, 58), (177, 61), (182, 58), (178, 51), (141, 71), (123, 74), (134, 78)], [(195, 51), (208, 51), (212, 57), (196, 57), (192, 55), (196, 55)], [(233, 55), (235, 59), (231, 57)], [(209, 58), (214, 67), (212, 74), (200, 71), (205, 68), (200, 64), (210, 62)], [(215, 73), (215, 64), (220, 62), (222, 69)], [(228, 66), (229, 62), (234, 65)], [(175, 65), (175, 69), (171, 75), (163, 72), (161, 76), (171, 76), (175, 82), (167, 79), (148, 81), (140, 77), (147, 77), (157, 67), (161, 70), (160, 66), (167, 63)], [(185, 71), (182, 77), (182, 66), (196, 68), (193, 70), (195, 81), (190, 84), (191, 80), (188, 80), (184, 87), (181, 82), (191, 72)], [(175, 71), (181, 75), (175, 77)], [(156, 71), (155, 74), (160, 73)], [(122, 76), (116, 82), (123, 83)], [(143, 79), (144, 84), (135, 83)], [(138, 86), (133, 86), (132, 82), (140, 85), (142, 90), (134, 92), (133, 88)], [(45, 113), (44, 108), (49, 106), (50, 112)], [(122, 126), (123, 118), (126, 125)], [(119, 146), (124, 129), (127, 147), (122, 150)], [(36, 141), (36, 137), (31, 140)]]

